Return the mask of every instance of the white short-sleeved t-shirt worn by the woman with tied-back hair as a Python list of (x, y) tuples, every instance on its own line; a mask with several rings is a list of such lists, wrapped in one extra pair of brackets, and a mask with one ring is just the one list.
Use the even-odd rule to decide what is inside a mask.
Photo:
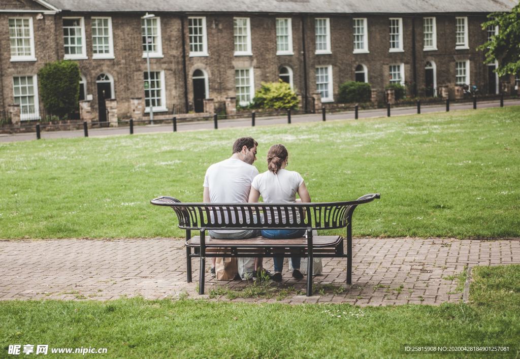
[[(303, 183), (303, 178), (300, 173), (295, 171), (288, 171), (280, 169), (277, 174), (271, 171), (266, 171), (257, 175), (251, 187), (256, 189), (264, 202), (266, 203), (294, 203), (296, 202), (296, 193), (298, 187)], [(282, 219), (285, 220), (285, 213), (282, 212)], [(300, 221), (299, 213), (297, 221)], [(290, 220), (292, 220), (292, 213), (289, 213)], [(267, 212), (267, 219), (270, 221), (270, 213)], [(275, 211), (275, 221), (278, 220), (278, 214)]]

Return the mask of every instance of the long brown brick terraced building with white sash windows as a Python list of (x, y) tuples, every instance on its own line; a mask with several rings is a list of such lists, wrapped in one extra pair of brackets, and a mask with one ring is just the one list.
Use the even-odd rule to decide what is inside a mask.
[(79, 63), (80, 100), (93, 120), (106, 119), (106, 106), (129, 118), (150, 105), (156, 116), (202, 112), (209, 98), (246, 105), (262, 81), (278, 79), (307, 109), (313, 94), (334, 102), (339, 85), (353, 80), (369, 82), (381, 101), (389, 83), (418, 96), (446, 86), (453, 95), (462, 84), (514, 91), (518, 76), (499, 79), (476, 47), (497, 30), (482, 30), (486, 16), (515, 4), (2, 0), (0, 111), (19, 105), (22, 121), (40, 118), (36, 74), (58, 59)]

